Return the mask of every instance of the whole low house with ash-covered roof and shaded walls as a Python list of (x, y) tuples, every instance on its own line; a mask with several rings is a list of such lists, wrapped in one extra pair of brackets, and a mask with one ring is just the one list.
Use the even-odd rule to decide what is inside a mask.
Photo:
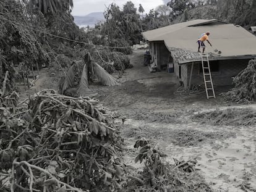
[[(205, 43), (213, 85), (231, 85), (233, 77), (256, 57), (256, 37), (239, 25), (198, 19), (146, 31), (142, 35), (149, 43), (158, 70), (174, 66), (173, 72), (187, 88), (189, 83), (204, 83), (197, 39), (206, 31), (210, 31), (209, 41), (213, 44), (211, 47)], [(220, 52), (215, 52), (216, 49)]]

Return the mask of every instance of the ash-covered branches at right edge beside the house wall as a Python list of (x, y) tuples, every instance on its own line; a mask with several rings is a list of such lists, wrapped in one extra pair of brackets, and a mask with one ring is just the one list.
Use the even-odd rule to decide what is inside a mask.
[(233, 80), (234, 88), (224, 93), (227, 100), (242, 103), (256, 99), (256, 59), (249, 61), (247, 67)]

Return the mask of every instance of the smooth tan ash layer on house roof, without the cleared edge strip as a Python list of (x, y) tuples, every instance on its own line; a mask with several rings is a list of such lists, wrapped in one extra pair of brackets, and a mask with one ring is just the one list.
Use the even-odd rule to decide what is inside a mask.
[[(198, 20), (195, 20), (198, 21)], [(202, 22), (202, 20), (200, 20)], [(185, 22), (188, 23), (188, 22)], [(179, 23), (180, 24), (180, 23)], [(186, 51), (197, 52), (198, 44), (196, 43), (198, 36), (203, 32), (210, 31), (210, 45), (205, 42), (208, 52), (214, 52), (214, 49), (221, 51), (221, 57), (241, 57), (241, 56), (256, 56), (256, 37), (242, 27), (236, 27), (233, 24), (219, 25), (200, 25), (197, 27), (181, 27), (181, 25), (169, 25), (172, 27), (169, 32), (164, 29), (160, 34), (161, 29), (151, 30), (143, 33), (143, 36), (148, 41), (164, 41), (166, 47), (171, 51), (174, 49), (185, 49)], [(187, 24), (186, 24), (187, 25)], [(166, 27), (164, 27), (166, 28)], [(176, 28), (176, 30), (174, 30)], [(155, 35), (154, 34), (158, 34)], [(197, 60), (187, 59), (187, 62)]]

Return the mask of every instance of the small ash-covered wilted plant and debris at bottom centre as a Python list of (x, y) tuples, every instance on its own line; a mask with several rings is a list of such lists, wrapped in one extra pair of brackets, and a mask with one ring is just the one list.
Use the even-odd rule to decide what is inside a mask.
[(130, 180), (124, 191), (212, 191), (195, 172), (195, 159), (174, 159), (176, 164), (171, 165), (164, 161), (166, 154), (145, 138), (136, 141), (134, 148), (139, 148), (135, 162), (144, 163), (143, 172), (128, 175)]

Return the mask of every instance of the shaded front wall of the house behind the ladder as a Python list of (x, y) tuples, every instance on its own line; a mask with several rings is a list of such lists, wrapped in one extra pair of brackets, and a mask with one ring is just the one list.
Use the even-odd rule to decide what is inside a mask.
[[(248, 65), (250, 59), (241, 60), (223, 60), (219, 61), (218, 72), (211, 72), (211, 78), (213, 80), (213, 85), (232, 85), (233, 77), (245, 69)], [(186, 65), (186, 64), (183, 64)], [(194, 69), (192, 74), (191, 84), (203, 85), (203, 73), (200, 72), (201, 62), (194, 63)], [(211, 61), (210, 61), (211, 65)], [(189, 85), (189, 77), (191, 64), (187, 64), (187, 67), (182, 68), (182, 81), (186, 87)], [(187, 74), (187, 75), (184, 75)], [(184, 77), (183, 77), (184, 76)]]

